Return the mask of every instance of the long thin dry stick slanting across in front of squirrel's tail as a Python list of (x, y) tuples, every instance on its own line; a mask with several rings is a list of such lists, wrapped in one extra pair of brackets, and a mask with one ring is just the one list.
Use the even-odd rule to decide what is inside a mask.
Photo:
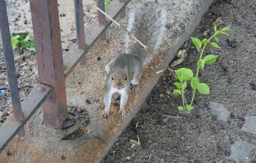
[[(151, 53), (160, 63), (162, 63), (162, 64), (171, 72), (171, 74), (175, 77), (175, 80), (176, 80), (177, 82), (180, 82), (180, 81), (179, 81), (179, 78), (178, 78), (178, 76), (175, 74), (174, 70), (171, 69), (167, 64), (165, 64), (164, 61), (160, 60), (159, 57), (157, 57), (153, 52), (151, 52), (151, 51), (148, 49), (148, 47), (146, 47), (144, 44), (142, 44), (136, 37), (134, 37), (133, 34), (132, 34), (130, 31), (128, 31), (127, 29), (125, 29), (124, 27), (122, 27), (118, 22), (116, 22), (115, 20), (113, 20), (111, 17), (109, 17), (105, 12), (103, 12), (102, 10), (100, 10), (98, 7), (97, 7), (97, 10), (99, 10), (102, 14), (104, 14), (106, 17), (108, 17), (110, 20), (112, 20), (116, 25), (118, 25), (121, 29), (123, 29), (123, 30), (128, 34), (129, 37), (131, 36), (135, 41), (137, 41), (138, 43), (140, 43), (149, 53)], [(185, 95), (183, 95), (183, 98), (184, 98), (184, 103), (185, 103), (185, 105), (187, 106), (188, 103), (187, 103), (187, 100), (186, 100)]]

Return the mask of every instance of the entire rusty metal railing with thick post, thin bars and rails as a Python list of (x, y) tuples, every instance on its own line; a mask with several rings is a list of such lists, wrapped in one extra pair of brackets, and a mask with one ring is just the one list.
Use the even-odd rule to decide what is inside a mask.
[[(130, 0), (113, 0), (106, 13), (113, 19), (124, 17), (125, 6)], [(97, 7), (105, 11), (104, 0), (97, 0)], [(0, 127), (0, 152), (14, 138), (25, 134), (24, 125), (42, 105), (45, 125), (61, 129), (67, 117), (65, 77), (78, 62), (85, 64), (85, 54), (100, 38), (106, 39), (106, 29), (111, 21), (97, 12), (97, 20), (84, 32), (82, 0), (74, 0), (76, 43), (62, 57), (60, 23), (57, 0), (30, 0), (39, 83), (20, 102), (15, 72), (11, 37), (5, 0), (0, 0), (0, 29), (10, 87), (13, 116)], [(96, 9), (95, 9), (96, 10)]]

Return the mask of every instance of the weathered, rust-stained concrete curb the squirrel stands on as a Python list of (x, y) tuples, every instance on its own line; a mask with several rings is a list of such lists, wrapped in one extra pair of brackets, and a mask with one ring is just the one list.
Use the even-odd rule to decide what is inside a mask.
[[(174, 0), (172, 3), (175, 5), (172, 5), (170, 1), (158, 1), (167, 9), (169, 25), (158, 56), (169, 63), (178, 49), (192, 35), (192, 31), (195, 30), (212, 0), (194, 0), (193, 2)], [(139, 3), (143, 4), (144, 1), (139, 1)], [(131, 1), (127, 6), (126, 13), (129, 13), (130, 8), (137, 4), (138, 1)], [(127, 15), (124, 20), (127, 21)], [(125, 21), (123, 25), (126, 26)], [(104, 67), (113, 57), (124, 52), (125, 34), (121, 29), (113, 26), (107, 31), (107, 37), (112, 41), (109, 44), (105, 41), (98, 41), (86, 54), (87, 64), (85, 66), (77, 65), (66, 78), (68, 106), (79, 106), (88, 112), (91, 116), (90, 132), (72, 141), (49, 136), (42, 132), (43, 129), (40, 127), (42, 111), (38, 110), (25, 126), (27, 135), (23, 138), (15, 138), (7, 146), (6, 150), (15, 154), (7, 157), (6, 150), (4, 150), (0, 154), (0, 162), (99, 162), (101, 160), (157, 83), (161, 73), (155, 74), (155, 72), (163, 69), (163, 66), (156, 60), (143, 69), (139, 84), (140, 92), (131, 93), (126, 104), (126, 119), (118, 114), (118, 107), (113, 105), (110, 108), (110, 116), (103, 118), (100, 113), (104, 108), (103, 86), (106, 76)], [(97, 61), (96, 56), (100, 56), (101, 60)], [(77, 85), (78, 81), (81, 82), (80, 85)], [(91, 104), (86, 103), (86, 99), (90, 99)], [(93, 99), (97, 99), (99, 102), (93, 102)], [(118, 103), (120, 102), (118, 101)], [(16, 144), (16, 148), (12, 147), (12, 144)], [(64, 156), (65, 159), (62, 160), (61, 156)]]

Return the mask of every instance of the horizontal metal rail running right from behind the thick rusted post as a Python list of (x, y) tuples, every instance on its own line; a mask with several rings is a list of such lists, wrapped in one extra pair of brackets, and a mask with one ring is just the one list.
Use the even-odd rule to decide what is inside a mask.
[[(106, 13), (112, 18), (115, 19), (125, 8), (125, 6), (130, 2), (130, 0), (124, 0), (122, 2), (111, 1), (108, 7), (105, 9)], [(107, 19), (105, 24), (99, 24), (98, 21), (94, 21), (89, 28), (85, 31), (85, 45), (84, 49), (78, 49), (77, 45), (74, 44), (70, 50), (63, 57), (64, 63), (64, 73), (67, 77), (76, 64), (80, 61), (82, 56), (84, 56), (89, 49), (94, 45), (94, 43), (99, 39), (101, 34), (107, 30), (107, 27), (112, 22)]]

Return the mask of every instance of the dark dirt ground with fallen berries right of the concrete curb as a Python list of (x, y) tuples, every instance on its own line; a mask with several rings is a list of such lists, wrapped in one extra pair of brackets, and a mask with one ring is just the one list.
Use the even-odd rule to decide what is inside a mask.
[[(252, 90), (250, 85), (250, 82), (256, 83), (255, 9), (255, 0), (213, 2), (192, 34), (200, 40), (208, 39), (214, 34), (212, 24), (219, 17), (222, 23), (217, 30), (225, 26), (231, 28), (227, 32), (230, 35), (217, 37), (220, 42), (219, 49), (207, 45), (203, 54), (219, 56), (216, 62), (206, 64), (203, 70), (199, 70), (199, 79), (209, 85), (210, 95), (196, 92), (191, 114), (188, 115), (184, 110), (179, 111), (177, 107), (182, 105), (181, 96), (166, 93), (173, 93), (176, 89), (173, 77), (166, 70), (137, 116), (132, 119), (101, 162), (233, 163), (235, 161), (228, 157), (232, 141), (242, 140), (256, 144), (255, 134), (241, 130), (244, 117), (256, 115), (256, 91)], [(207, 29), (209, 32), (203, 35)], [(190, 68), (195, 74), (200, 53), (192, 43), (187, 59), (191, 56), (194, 57), (192, 62), (188, 63), (186, 60), (177, 68)], [(188, 90), (186, 96), (190, 101), (192, 90)], [(222, 103), (230, 111), (230, 123), (216, 120), (217, 115), (211, 114), (208, 107), (209, 101)], [(182, 118), (171, 118), (163, 116), (164, 114)], [(187, 120), (188, 117), (191, 118), (190, 121)], [(167, 118), (167, 122), (163, 122), (163, 118)], [(219, 129), (219, 125), (223, 125), (224, 130)], [(137, 141), (137, 135), (142, 145), (136, 145), (132, 149), (129, 140)], [(256, 162), (256, 151), (251, 151), (249, 155), (249, 162)]]

